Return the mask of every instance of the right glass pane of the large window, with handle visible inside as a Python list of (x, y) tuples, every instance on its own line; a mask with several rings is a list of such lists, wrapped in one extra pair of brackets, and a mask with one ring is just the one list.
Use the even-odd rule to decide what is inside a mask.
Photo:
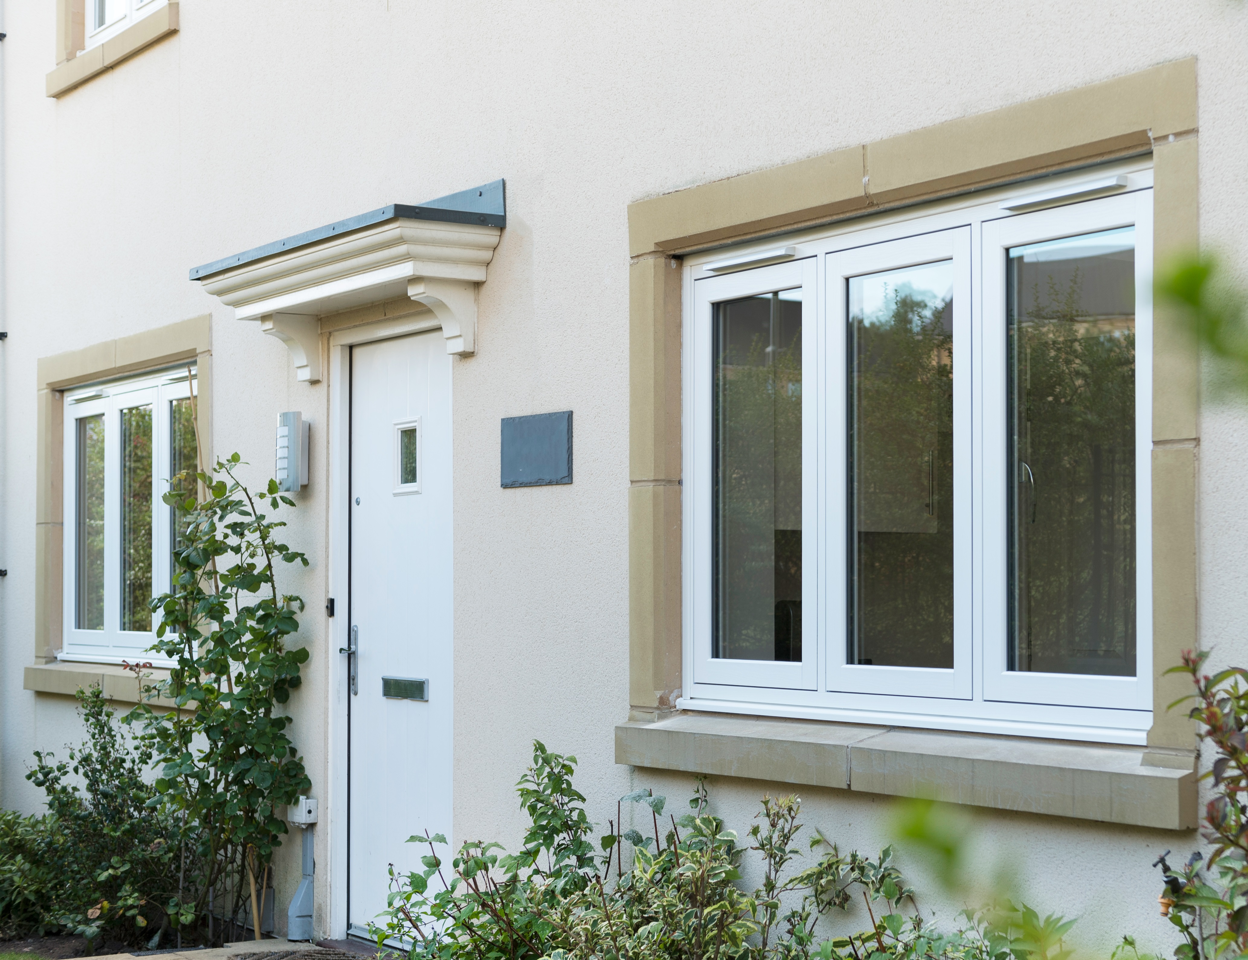
[(1008, 257), (1010, 668), (1136, 673), (1134, 229)]

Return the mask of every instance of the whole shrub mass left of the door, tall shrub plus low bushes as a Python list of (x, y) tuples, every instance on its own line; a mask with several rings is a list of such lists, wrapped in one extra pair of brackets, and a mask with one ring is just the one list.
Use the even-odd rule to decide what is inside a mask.
[[(79, 691), (86, 741), (64, 762), (36, 752), (27, 774), (47, 814), (0, 812), (0, 931), (217, 945), (243, 935), (248, 908), (263, 915), (283, 807), (311, 788), (281, 709), (308, 658), (286, 648), (302, 601), (277, 591), (273, 567), (307, 560), (261, 512), (293, 501), (276, 481), (253, 495), (240, 464), (178, 475), (165, 496), (185, 530), (176, 583), (151, 603), (152, 650), (175, 666), (142, 688), (176, 708), (140, 703), (121, 718), (130, 738), (99, 687)], [(197, 485), (202, 502), (183, 492)]]

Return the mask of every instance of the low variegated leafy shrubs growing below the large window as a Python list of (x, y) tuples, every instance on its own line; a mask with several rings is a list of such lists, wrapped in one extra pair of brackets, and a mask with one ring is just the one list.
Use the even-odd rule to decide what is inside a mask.
[[(437, 853), (446, 838), (411, 838), (429, 853), (422, 870), (391, 868), (389, 909), (384, 923), (371, 928), (378, 946), (409, 944), (411, 960), (1065, 960), (1070, 954), (1062, 938), (1072, 920), (1041, 919), (1010, 903), (965, 914), (963, 929), (932, 929), (914, 909), (891, 848), (874, 860), (842, 855), (816, 832), (804, 852), (796, 797), (764, 797), (743, 840), (708, 812), (700, 782), (690, 812), (679, 818), (664, 815), (663, 797), (638, 790), (620, 804), (643, 804), (653, 834), (623, 832), (612, 822), (595, 855), (584, 797), (572, 784), (574, 766), (574, 757), (534, 742), (533, 766), (519, 782), (530, 827), (518, 854), (497, 843), (466, 843), (447, 878)], [(748, 891), (740, 866), (751, 853), (761, 860), (763, 883)], [(814, 863), (792, 869), (807, 853)], [(820, 940), (820, 918), (859, 896), (871, 926)]]

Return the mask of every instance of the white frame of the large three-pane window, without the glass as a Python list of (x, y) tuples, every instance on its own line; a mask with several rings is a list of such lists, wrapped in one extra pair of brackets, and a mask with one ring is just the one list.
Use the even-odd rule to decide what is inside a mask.
[[(1152, 726), (1152, 167), (1147, 158), (1048, 177), (1046, 192), (1122, 173), (1113, 196), (1050, 199), (1006, 209), (1036, 182), (789, 234), (792, 261), (736, 273), (728, 257), (774, 251), (776, 238), (690, 254), (684, 262), (683, 632), (684, 709), (837, 719), (935, 729), (1143, 744)], [(1086, 196), (1086, 194), (1085, 194)], [(1136, 226), (1136, 678), (1008, 673), (1006, 665), (1006, 247)], [(943, 238), (942, 236), (943, 234)], [(940, 244), (945, 244), (943, 247)], [(936, 256), (950, 251), (945, 256)], [(966, 258), (955, 287), (955, 667), (865, 667), (845, 662), (845, 304), (849, 276)], [(915, 259), (917, 257), (917, 259)], [(1000, 263), (990, 271), (988, 262)], [(718, 262), (718, 263), (716, 263)], [(715, 266), (715, 271), (708, 269)], [(710, 304), (779, 289), (802, 271), (801, 665), (711, 662)], [(992, 276), (990, 276), (992, 274)], [(784, 279), (791, 286), (791, 278)], [(810, 308), (814, 304), (814, 317)], [(961, 324), (961, 325), (960, 325)], [(814, 343), (811, 340), (814, 339)], [(957, 343), (957, 339), (956, 339)], [(809, 352), (807, 352), (809, 349)], [(985, 358), (998, 357), (993, 367)], [(817, 359), (816, 359), (817, 358)], [(968, 363), (970, 362), (970, 363)], [(970, 367), (970, 369), (967, 369)], [(970, 374), (970, 375), (967, 375)], [(810, 436), (810, 430), (815, 436)], [(811, 517), (814, 511), (814, 519)], [(817, 546), (811, 541), (817, 540)], [(816, 556), (810, 556), (815, 547)], [(814, 596), (811, 596), (814, 593)], [(991, 640), (990, 640), (991, 638)], [(807, 661), (815, 661), (815, 681)], [(773, 676), (775, 674), (775, 676)], [(784, 674), (789, 674), (786, 678)]]

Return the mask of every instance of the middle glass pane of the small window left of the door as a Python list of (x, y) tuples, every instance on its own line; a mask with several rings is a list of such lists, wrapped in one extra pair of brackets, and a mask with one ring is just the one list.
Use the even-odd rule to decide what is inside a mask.
[(152, 613), (152, 408), (121, 411), (121, 628), (149, 631)]

